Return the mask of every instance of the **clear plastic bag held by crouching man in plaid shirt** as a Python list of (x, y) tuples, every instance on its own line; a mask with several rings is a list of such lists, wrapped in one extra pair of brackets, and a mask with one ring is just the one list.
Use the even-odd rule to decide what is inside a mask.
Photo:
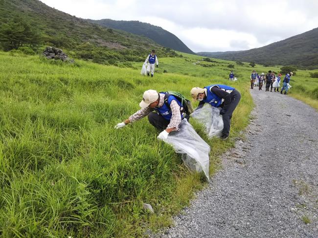
[(177, 153), (182, 154), (182, 160), (187, 166), (199, 173), (203, 172), (209, 180), (210, 146), (198, 135), (191, 124), (183, 119), (180, 130), (172, 131), (163, 141), (172, 145)]

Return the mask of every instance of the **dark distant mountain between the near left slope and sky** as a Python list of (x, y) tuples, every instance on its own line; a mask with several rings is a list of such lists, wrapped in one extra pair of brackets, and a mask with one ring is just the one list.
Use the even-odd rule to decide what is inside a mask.
[(89, 21), (105, 27), (123, 30), (147, 37), (160, 45), (172, 48), (177, 51), (194, 54), (194, 52), (189, 49), (177, 36), (162, 29), (159, 26), (139, 21), (114, 21), (111, 19)]

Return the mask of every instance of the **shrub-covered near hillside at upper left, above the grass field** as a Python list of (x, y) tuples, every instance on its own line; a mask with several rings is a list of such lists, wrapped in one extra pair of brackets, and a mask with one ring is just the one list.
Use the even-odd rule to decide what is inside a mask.
[(71, 57), (101, 64), (143, 61), (153, 48), (160, 57), (176, 56), (150, 39), (87, 22), (39, 0), (0, 0), (0, 22), (0, 47), (4, 50), (52, 45)]

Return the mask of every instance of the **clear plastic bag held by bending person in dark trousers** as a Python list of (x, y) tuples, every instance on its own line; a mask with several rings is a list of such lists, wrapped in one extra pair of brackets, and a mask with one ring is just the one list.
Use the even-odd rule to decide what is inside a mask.
[(195, 110), (191, 116), (204, 125), (204, 132), (209, 138), (220, 136), (223, 130), (221, 108), (215, 108), (205, 103), (202, 108)]

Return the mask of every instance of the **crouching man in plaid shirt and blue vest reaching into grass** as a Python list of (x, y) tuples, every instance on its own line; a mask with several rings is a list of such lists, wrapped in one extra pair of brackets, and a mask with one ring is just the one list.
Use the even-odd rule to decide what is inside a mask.
[(179, 124), (183, 119), (183, 107), (175, 96), (149, 89), (143, 93), (139, 106), (140, 110), (124, 122), (118, 123), (115, 129), (123, 128), (148, 115), (150, 124), (161, 131), (159, 139), (166, 139), (171, 131), (179, 130)]

